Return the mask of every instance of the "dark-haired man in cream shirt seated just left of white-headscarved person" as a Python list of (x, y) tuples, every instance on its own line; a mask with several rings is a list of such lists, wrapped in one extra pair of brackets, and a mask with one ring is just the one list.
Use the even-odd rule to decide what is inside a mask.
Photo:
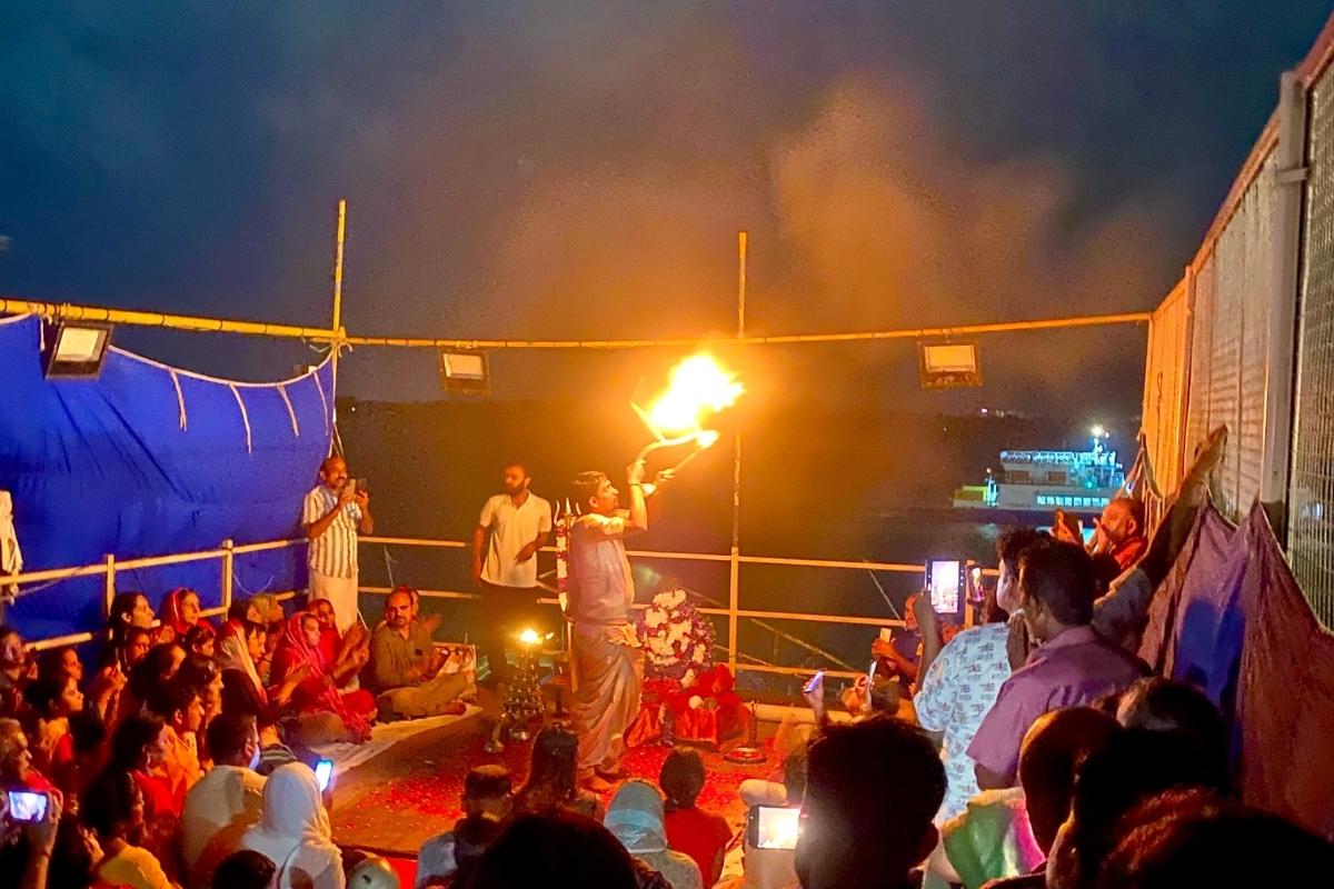
[(208, 724), (208, 749), (215, 765), (185, 794), (180, 816), (185, 885), (208, 889), (213, 870), (240, 849), (241, 834), (264, 809), (264, 778), (259, 762), (255, 717), (219, 713)]

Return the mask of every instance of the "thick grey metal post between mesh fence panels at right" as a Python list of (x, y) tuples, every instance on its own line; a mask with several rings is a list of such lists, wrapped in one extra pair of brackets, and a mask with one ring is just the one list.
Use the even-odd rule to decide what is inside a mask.
[(1259, 501), (1279, 542), (1287, 541), (1287, 480), (1293, 454), (1293, 389), (1297, 371), (1297, 307), (1301, 268), (1302, 193), (1306, 183), (1306, 88), (1294, 72), (1279, 80), (1278, 157), (1270, 284), (1269, 372), (1265, 377), (1265, 439)]

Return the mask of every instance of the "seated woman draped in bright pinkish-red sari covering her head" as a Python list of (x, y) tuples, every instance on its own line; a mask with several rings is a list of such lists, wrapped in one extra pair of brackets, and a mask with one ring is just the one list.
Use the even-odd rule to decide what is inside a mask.
[[(320, 622), (311, 612), (297, 612), (287, 618), (283, 636), (273, 652), (273, 669), (269, 685), (277, 685), (300, 668), (305, 668), (305, 678), (296, 685), (292, 704), (299, 713), (334, 713), (343, 720), (355, 736), (370, 737), (375, 718), (375, 696), (366, 690), (340, 692), (340, 681), (348, 676), (340, 674), (331, 665), (320, 648)], [(343, 669), (356, 673), (360, 665), (355, 661)]]

